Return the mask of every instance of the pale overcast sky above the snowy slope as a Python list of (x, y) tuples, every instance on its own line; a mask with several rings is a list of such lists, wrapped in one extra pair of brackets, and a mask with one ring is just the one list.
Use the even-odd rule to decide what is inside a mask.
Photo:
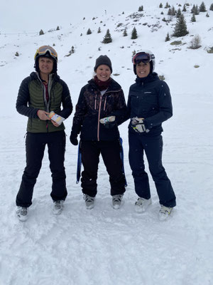
[[(50, 29), (56, 26), (74, 24), (83, 17), (101, 16), (107, 13), (122, 13), (132, 10), (135, 4), (126, 0), (6, 0), (1, 3), (0, 32), (37, 32), (40, 28)], [(141, 4), (140, 4), (141, 5)]]

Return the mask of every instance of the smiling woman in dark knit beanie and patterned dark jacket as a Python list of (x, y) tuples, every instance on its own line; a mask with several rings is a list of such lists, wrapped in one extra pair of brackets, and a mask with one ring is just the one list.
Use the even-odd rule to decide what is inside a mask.
[(81, 186), (87, 209), (94, 207), (97, 195), (100, 153), (109, 173), (112, 205), (114, 209), (119, 209), (125, 192), (125, 177), (120, 157), (118, 125), (124, 122), (126, 102), (121, 86), (110, 77), (112, 68), (108, 56), (97, 58), (94, 71), (96, 75), (80, 92), (70, 142), (77, 145), (77, 135), (80, 133), (84, 166)]

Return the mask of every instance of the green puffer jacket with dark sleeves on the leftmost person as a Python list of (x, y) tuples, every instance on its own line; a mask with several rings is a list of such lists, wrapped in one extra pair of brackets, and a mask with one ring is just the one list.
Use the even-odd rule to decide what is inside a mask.
[(40, 120), (37, 112), (38, 110), (54, 111), (63, 118), (68, 118), (72, 113), (72, 101), (67, 84), (57, 74), (50, 74), (48, 93), (49, 101), (47, 102), (45, 87), (38, 73), (31, 73), (21, 83), (18, 90), (16, 110), (21, 115), (28, 117), (27, 131), (30, 133), (48, 133), (65, 129), (63, 123), (59, 127), (55, 127), (50, 120)]

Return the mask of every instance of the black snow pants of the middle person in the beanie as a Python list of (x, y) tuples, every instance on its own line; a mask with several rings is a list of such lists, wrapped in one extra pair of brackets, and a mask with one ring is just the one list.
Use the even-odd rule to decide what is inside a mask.
[(97, 172), (99, 155), (102, 154), (104, 165), (107, 167), (111, 195), (119, 195), (125, 192), (125, 177), (122, 172), (119, 140), (114, 141), (85, 141), (81, 142), (82, 192), (91, 197), (97, 195)]

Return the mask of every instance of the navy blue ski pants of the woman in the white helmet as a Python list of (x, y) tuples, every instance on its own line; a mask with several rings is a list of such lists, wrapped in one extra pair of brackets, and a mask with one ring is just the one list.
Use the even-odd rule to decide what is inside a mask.
[(161, 135), (148, 137), (129, 132), (129, 164), (132, 170), (135, 191), (139, 197), (151, 197), (148, 175), (145, 171), (143, 153), (155, 182), (159, 202), (165, 207), (175, 207), (176, 197), (170, 180), (162, 165), (163, 139)]

